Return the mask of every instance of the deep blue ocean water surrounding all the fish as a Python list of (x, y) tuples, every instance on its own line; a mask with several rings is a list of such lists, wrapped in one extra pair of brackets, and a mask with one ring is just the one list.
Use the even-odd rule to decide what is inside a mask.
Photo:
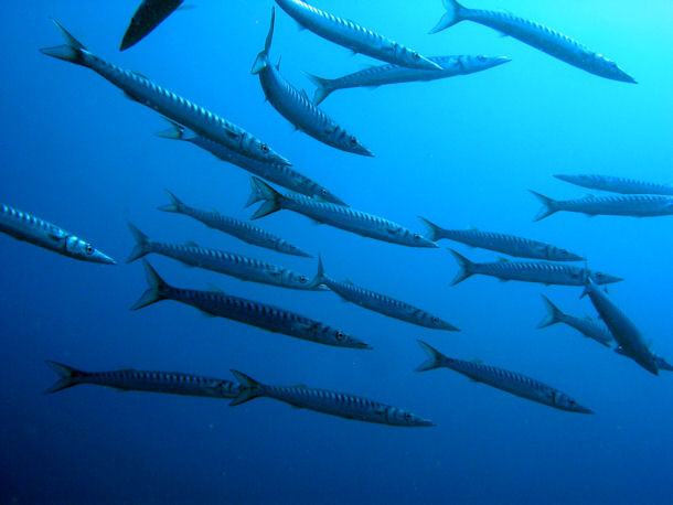
[[(540, 223), (526, 191), (585, 192), (554, 173), (608, 173), (673, 183), (673, 7), (644, 2), (474, 0), (577, 39), (640, 83), (608, 80), (474, 23), (427, 35), (439, 0), (316, 0), (425, 55), (506, 55), (483, 72), (375, 90), (336, 92), (322, 108), (376, 158), (349, 154), (292, 131), (264, 101), (249, 69), (271, 1), (194, 1), (135, 47), (118, 52), (139, 0), (7, 1), (0, 17), (0, 201), (54, 222), (119, 261), (75, 261), (0, 237), (1, 503), (671, 503), (673, 374), (659, 377), (571, 329), (537, 330), (544, 292), (566, 312), (595, 315), (580, 289), (474, 277), (449, 287), (457, 266), (496, 254), (460, 244), (415, 249), (279, 212), (257, 222), (321, 253), (327, 272), (421, 307), (462, 329), (437, 332), (298, 292), (150, 262), (174, 286), (279, 304), (342, 327), (375, 350), (320, 346), (162, 302), (129, 307), (146, 289), (125, 221), (151, 238), (248, 254), (312, 275), (316, 259), (248, 246), (184, 216), (161, 213), (169, 189), (185, 203), (247, 218), (247, 172), (186, 143), (159, 139), (165, 122), (89, 69), (49, 58), (57, 19), (99, 56), (142, 73), (267, 141), (297, 170), (354, 208), (423, 230), (512, 233), (586, 255), (626, 278), (610, 296), (655, 353), (673, 361), (671, 217)], [(336, 77), (371, 64), (277, 9), (273, 58), (310, 95), (302, 71)], [(596, 416), (568, 413), (414, 369), (423, 339), (449, 356), (479, 357), (555, 386)], [(349, 421), (269, 399), (225, 400), (78, 386), (42, 391), (54, 359), (87, 370), (133, 367), (269, 384), (303, 383), (378, 399), (432, 419), (429, 429)]]

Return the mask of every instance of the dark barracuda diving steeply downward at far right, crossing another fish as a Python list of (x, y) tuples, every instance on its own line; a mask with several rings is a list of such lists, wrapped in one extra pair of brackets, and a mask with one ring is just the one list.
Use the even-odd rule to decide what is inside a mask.
[(654, 356), (648, 348), (640, 331), (633, 322), (603, 293), (596, 283), (588, 279), (584, 294), (588, 294), (591, 303), (600, 314), (617, 343), (623, 348), (624, 354), (632, 358), (648, 372), (659, 375), (659, 368)]

